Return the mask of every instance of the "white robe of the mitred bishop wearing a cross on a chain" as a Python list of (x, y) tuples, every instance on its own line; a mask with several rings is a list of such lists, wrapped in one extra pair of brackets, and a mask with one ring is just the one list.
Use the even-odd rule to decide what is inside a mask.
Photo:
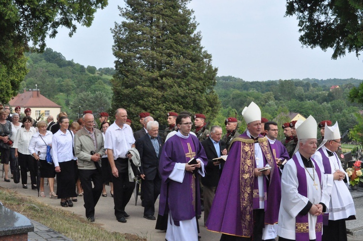
[[(300, 166), (304, 168), (300, 152), (296, 152), (295, 155), (298, 158)], [(314, 163), (313, 166), (315, 166)], [(277, 234), (279, 237), (290, 240), (296, 239), (295, 217), (299, 214), (300, 211), (302, 211), (308, 201), (310, 201), (312, 204), (324, 203), (327, 209), (329, 208), (330, 197), (326, 192), (326, 182), (323, 174), (321, 173), (322, 184), (320, 185), (316, 169), (306, 169), (304, 169), (304, 171), (307, 182), (307, 197), (302, 196), (298, 192), (299, 180), (297, 178), (297, 168), (295, 166), (295, 162), (290, 159), (284, 166), (284, 171), (281, 177), (281, 205), (277, 229)], [(314, 185), (314, 181), (310, 177), (310, 175), (313, 176), (313, 169), (314, 179), (315, 182), (318, 184), (317, 187)], [(310, 173), (310, 175), (308, 172)], [(318, 188), (318, 190), (316, 188)], [(309, 239), (314, 240), (316, 239), (315, 225), (317, 223), (317, 216), (311, 215), (309, 212), (306, 215), (308, 215), (308, 222), (310, 227)]]

